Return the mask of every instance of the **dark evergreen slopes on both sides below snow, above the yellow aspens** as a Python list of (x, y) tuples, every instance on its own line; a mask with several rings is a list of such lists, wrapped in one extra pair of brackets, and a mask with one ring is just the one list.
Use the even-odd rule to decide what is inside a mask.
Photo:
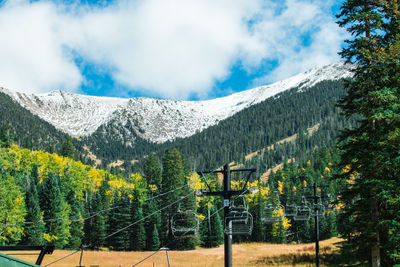
[[(209, 127), (191, 137), (173, 142), (155, 144), (139, 136), (133, 143), (126, 143), (124, 132), (127, 125), (113, 121), (102, 125), (95, 133), (80, 140), (72, 139), (76, 158), (88, 164), (100, 160), (99, 167), (115, 172), (132, 173), (141, 171), (143, 158), (152, 153), (160, 157), (164, 151), (176, 148), (189, 160), (191, 168), (213, 169), (228, 162), (256, 165), (260, 172), (280, 164), (284, 159), (300, 160), (316, 147), (330, 147), (340, 129), (354, 125), (344, 120), (336, 101), (345, 94), (343, 81), (324, 81), (311, 88), (293, 88), (253, 105), (217, 125)], [(43, 149), (59, 152), (67, 140), (66, 134), (32, 115), (13, 102), (8, 95), (0, 94), (1, 124), (8, 124), (15, 130), (16, 142), (24, 148)], [(307, 129), (316, 131), (308, 136)], [(129, 128), (129, 127), (128, 127)], [(132, 131), (127, 133), (132, 135)], [(115, 134), (119, 133), (119, 134)], [(289, 143), (277, 145), (282, 139), (298, 135)], [(265, 153), (267, 147), (269, 149)], [(96, 158), (89, 157), (88, 151)], [(257, 157), (245, 156), (261, 151)], [(121, 161), (122, 165), (111, 167), (110, 163)], [(139, 161), (139, 163), (138, 163)]]

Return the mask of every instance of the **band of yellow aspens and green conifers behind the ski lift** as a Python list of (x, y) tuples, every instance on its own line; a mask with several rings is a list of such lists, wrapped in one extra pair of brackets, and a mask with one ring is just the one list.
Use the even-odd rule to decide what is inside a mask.
[[(253, 177), (249, 186), (257, 186), (259, 191), (246, 195), (245, 200), (254, 217), (254, 230), (251, 236), (235, 240), (310, 241), (311, 221), (295, 222), (287, 217), (263, 224), (265, 216), (281, 216), (266, 214), (265, 207), (277, 204), (277, 193), (282, 204), (300, 204), (302, 196), (310, 195), (313, 182), (324, 193), (334, 194), (337, 186), (329, 182), (334, 160), (334, 154), (324, 150), (315, 152), (307, 162), (286, 164), (270, 176), (268, 184)], [(207, 179), (212, 188), (220, 187), (217, 177)], [(3, 244), (53, 243), (73, 249), (82, 245), (113, 250), (213, 247), (222, 242), (225, 222), (221, 199), (195, 197), (194, 190), (205, 188), (203, 181), (190, 173), (187, 160), (177, 150), (169, 150), (161, 160), (151, 154), (142, 174), (123, 177), (57, 154), (16, 145), (3, 147), (1, 240)], [(242, 184), (243, 177), (233, 181), (234, 188)], [(321, 218), (322, 238), (336, 234), (336, 213), (332, 208)], [(182, 227), (189, 234), (173, 230)]]

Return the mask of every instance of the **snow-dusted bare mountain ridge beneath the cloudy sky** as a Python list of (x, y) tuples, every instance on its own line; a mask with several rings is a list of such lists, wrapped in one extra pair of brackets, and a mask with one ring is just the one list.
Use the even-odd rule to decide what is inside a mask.
[(10, 95), (33, 114), (73, 137), (89, 136), (100, 126), (108, 125), (118, 131), (124, 129), (125, 138), (132, 138), (125, 140), (127, 143), (133, 142), (135, 135), (163, 143), (191, 136), (285, 90), (307, 88), (324, 80), (350, 76), (350, 67), (338, 62), (268, 86), (205, 101), (95, 97), (63, 91), (25, 94), (4, 88), (0, 88), (0, 92)]

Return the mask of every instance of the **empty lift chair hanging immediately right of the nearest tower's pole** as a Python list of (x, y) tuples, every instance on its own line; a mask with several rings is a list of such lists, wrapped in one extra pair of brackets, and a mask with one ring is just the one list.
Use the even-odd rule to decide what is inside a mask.
[(225, 217), (225, 233), (228, 235), (251, 235), (253, 216), (248, 212), (244, 196), (231, 201), (231, 207)]

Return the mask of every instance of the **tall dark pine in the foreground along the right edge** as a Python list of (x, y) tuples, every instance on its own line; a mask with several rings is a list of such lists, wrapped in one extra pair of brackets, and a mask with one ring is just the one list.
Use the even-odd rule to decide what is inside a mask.
[(372, 266), (400, 263), (399, 171), (400, 71), (397, 1), (348, 0), (339, 25), (353, 35), (341, 55), (355, 62), (348, 94), (340, 101), (359, 124), (340, 137), (343, 150), (338, 179), (349, 181), (341, 196), (341, 231), (347, 244)]

